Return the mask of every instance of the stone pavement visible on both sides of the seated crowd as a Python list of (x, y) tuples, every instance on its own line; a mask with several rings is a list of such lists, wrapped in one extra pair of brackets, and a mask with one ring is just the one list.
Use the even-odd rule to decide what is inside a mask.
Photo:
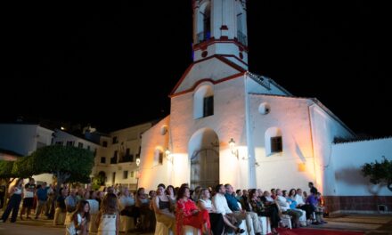
[[(2, 214), (2, 212), (0, 212)], [(328, 223), (312, 225), (313, 229), (363, 231), (366, 235), (392, 235), (392, 215), (331, 215)], [(54, 235), (64, 234), (64, 226), (54, 226), (52, 220), (18, 220), (17, 223), (0, 223), (0, 235)], [(295, 234), (295, 229), (292, 230)], [(90, 233), (95, 235), (94, 233)], [(124, 234), (124, 233), (120, 233)], [(141, 233), (128, 233), (141, 234)], [(144, 233), (151, 235), (152, 233)], [(315, 234), (316, 235), (316, 234)]]

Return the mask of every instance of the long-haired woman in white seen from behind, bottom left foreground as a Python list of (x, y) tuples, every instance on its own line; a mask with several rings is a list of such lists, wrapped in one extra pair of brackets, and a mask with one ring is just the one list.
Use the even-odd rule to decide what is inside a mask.
[(116, 194), (106, 194), (95, 223), (98, 227), (97, 235), (118, 235), (119, 209)]

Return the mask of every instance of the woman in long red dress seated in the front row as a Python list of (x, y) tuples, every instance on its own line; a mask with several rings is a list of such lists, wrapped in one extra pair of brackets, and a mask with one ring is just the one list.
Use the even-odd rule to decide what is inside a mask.
[(211, 226), (209, 224), (208, 211), (199, 210), (189, 197), (188, 187), (181, 187), (178, 190), (176, 203), (177, 235), (184, 234), (184, 225), (190, 225), (200, 229), (203, 234), (210, 234)]

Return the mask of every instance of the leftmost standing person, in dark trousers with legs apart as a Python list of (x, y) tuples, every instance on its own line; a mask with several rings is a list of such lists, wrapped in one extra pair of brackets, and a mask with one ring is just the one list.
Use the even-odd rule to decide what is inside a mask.
[(20, 200), (22, 196), (22, 189), (23, 189), (21, 186), (22, 183), (23, 183), (23, 179), (20, 178), (15, 183), (15, 185), (13, 185), (10, 188), (9, 194), (11, 198), (8, 201), (7, 208), (5, 209), (0, 222), (5, 222), (8, 219), (8, 216), (10, 216), (11, 211), (12, 211), (11, 223), (16, 222), (16, 217), (18, 217)]

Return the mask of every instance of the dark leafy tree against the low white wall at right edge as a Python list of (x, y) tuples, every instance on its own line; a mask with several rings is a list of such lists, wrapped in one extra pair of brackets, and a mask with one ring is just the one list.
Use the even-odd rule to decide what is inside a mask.
[(388, 190), (392, 191), (392, 160), (388, 160), (382, 156), (383, 160), (373, 163), (365, 163), (362, 166), (362, 173), (364, 177), (369, 176), (370, 182), (373, 184), (387, 183)]

